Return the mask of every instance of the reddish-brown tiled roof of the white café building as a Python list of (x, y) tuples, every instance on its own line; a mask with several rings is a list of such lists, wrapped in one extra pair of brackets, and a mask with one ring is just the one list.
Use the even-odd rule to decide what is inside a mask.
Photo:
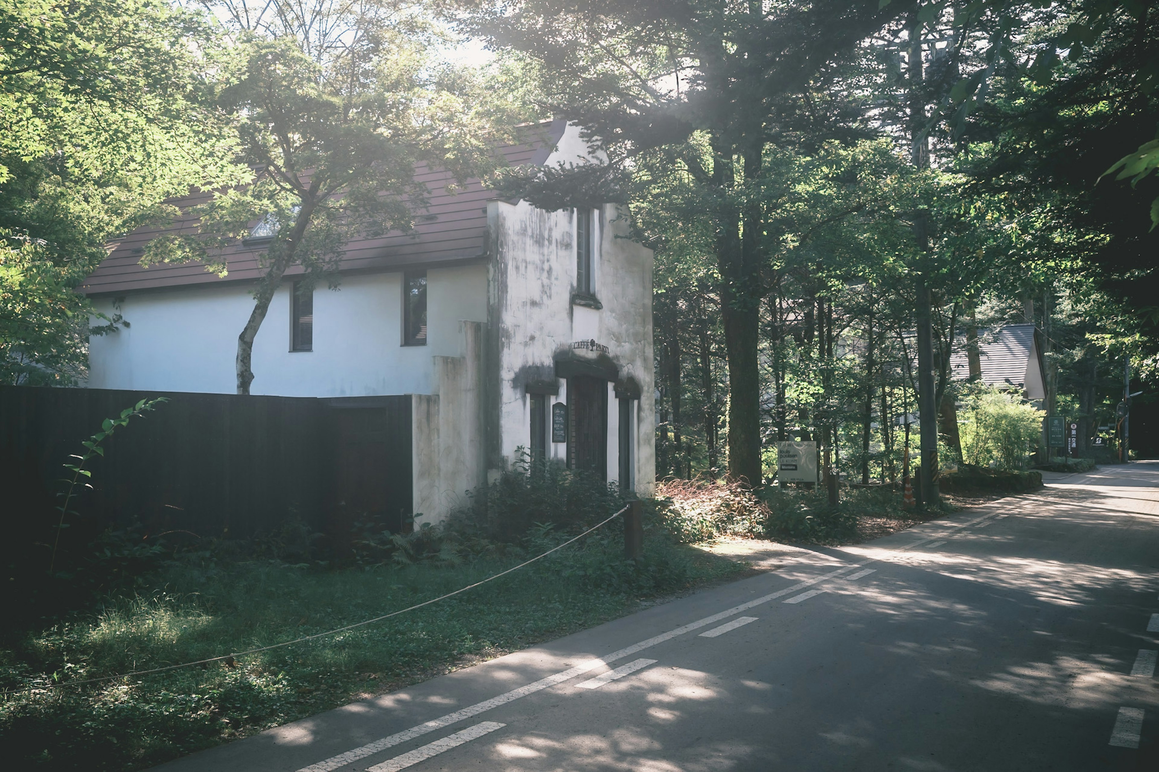
[[(566, 122), (552, 121), (523, 128), (526, 141), (501, 148), (508, 163), (542, 163), (563, 136)], [(451, 175), (442, 170), (418, 167), (415, 177), (430, 189), (430, 206), (421, 214), (410, 233), (392, 232), (377, 239), (352, 239), (347, 243), (342, 257), (343, 271), (389, 270), (410, 265), (454, 263), (479, 257), (483, 254), (487, 231), (487, 202), (495, 194), (486, 190), (478, 180), (471, 180), (464, 188), (451, 195), (446, 183)], [(207, 194), (194, 192), (183, 198), (172, 199), (182, 210), (203, 203)], [(114, 245), (112, 252), (88, 277), (81, 291), (87, 294), (109, 294), (150, 290), (156, 287), (194, 284), (221, 284), (225, 282), (253, 281), (261, 276), (258, 257), (263, 248), (238, 245), (225, 255), (228, 274), (219, 278), (205, 270), (202, 262), (158, 264), (145, 268), (140, 264), (145, 245), (163, 233), (191, 233), (197, 230), (195, 218), (178, 219), (168, 227), (141, 227)], [(300, 265), (293, 265), (287, 276), (301, 274)]]

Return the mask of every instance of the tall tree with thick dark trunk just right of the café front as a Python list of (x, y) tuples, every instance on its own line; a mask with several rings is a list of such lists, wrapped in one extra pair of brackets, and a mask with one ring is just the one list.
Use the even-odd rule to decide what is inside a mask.
[(763, 478), (758, 343), (771, 234), (760, 194), (777, 183), (768, 152), (854, 133), (855, 114), (826, 88), (833, 64), (895, 13), (874, 0), (471, 7), (491, 44), (539, 63), (551, 107), (610, 159), (597, 174), (530, 172), (509, 180), (511, 190), (545, 207), (606, 199), (642, 154), (658, 151), (699, 194), (720, 277), (732, 479)]

